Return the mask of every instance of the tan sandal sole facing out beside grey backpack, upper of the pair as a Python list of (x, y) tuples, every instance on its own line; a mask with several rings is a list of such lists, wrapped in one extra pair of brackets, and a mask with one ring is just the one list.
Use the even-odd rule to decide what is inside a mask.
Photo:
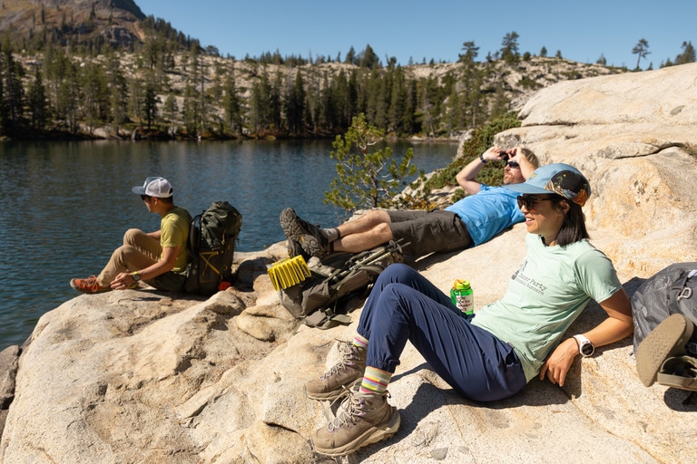
[(672, 314), (658, 324), (636, 350), (636, 372), (642, 383), (650, 387), (663, 361), (685, 353), (685, 344), (690, 340), (694, 325), (682, 314)]

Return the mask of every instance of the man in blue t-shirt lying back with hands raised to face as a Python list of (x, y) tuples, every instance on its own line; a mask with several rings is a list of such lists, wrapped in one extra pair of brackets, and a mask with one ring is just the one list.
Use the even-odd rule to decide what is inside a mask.
[(530, 150), (492, 147), (457, 173), (457, 183), (467, 196), (445, 209), (371, 209), (339, 227), (320, 228), (286, 208), (280, 213), (280, 226), (307, 256), (321, 257), (333, 251), (358, 253), (400, 239), (400, 243), (407, 244), (403, 245), (404, 253), (411, 256), (475, 247), (524, 220), (516, 201), (518, 193), (475, 180), (486, 162), (497, 160), (506, 161), (505, 186), (525, 182), (538, 167), (537, 157)]

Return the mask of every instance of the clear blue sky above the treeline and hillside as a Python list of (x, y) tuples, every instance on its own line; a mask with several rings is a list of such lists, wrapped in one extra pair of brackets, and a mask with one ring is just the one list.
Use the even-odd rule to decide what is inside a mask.
[(144, 14), (217, 47), (238, 59), (278, 50), (281, 56), (324, 55), (343, 59), (370, 44), (383, 63), (394, 56), (406, 65), (424, 58), (455, 62), (462, 44), (474, 41), (478, 61), (501, 48), (504, 36), (519, 35), (520, 53), (595, 63), (636, 65), (640, 39), (649, 54), (640, 63), (656, 69), (697, 46), (697, 0), (135, 0)]

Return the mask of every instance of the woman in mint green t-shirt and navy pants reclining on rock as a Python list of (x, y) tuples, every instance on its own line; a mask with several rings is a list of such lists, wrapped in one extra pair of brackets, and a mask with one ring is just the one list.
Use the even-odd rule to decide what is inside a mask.
[[(577, 169), (552, 164), (522, 184), (527, 255), (506, 295), (464, 316), (448, 295), (417, 271), (392, 265), (378, 277), (353, 342), (343, 359), (306, 384), (309, 398), (331, 400), (348, 392), (337, 416), (311, 437), (331, 456), (387, 438), (399, 427), (388, 404), (388, 382), (407, 341), (456, 391), (474, 401), (512, 396), (535, 376), (564, 385), (579, 353), (633, 332), (632, 306), (612, 262), (587, 240), (581, 207), (590, 186)], [(593, 298), (608, 318), (587, 333), (564, 332)], [(344, 388), (344, 387), (348, 387)]]

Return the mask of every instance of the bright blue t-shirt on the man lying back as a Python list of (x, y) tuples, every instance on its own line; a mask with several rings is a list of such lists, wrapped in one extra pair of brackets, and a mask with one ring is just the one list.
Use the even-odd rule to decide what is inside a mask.
[(446, 208), (455, 213), (467, 227), (474, 247), (483, 244), (502, 230), (523, 222), (525, 216), (518, 208), (520, 193), (505, 187), (482, 184), (481, 190)]

